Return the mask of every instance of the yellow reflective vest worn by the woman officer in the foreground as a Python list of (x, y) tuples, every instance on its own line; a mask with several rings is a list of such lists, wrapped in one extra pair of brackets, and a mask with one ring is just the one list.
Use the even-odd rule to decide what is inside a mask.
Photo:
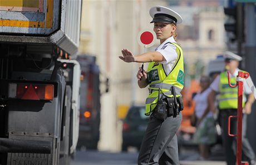
[(159, 62), (151, 62), (147, 68), (147, 79), (149, 81), (149, 96), (146, 99), (146, 111), (145, 115), (150, 115), (151, 111), (155, 109), (159, 88), (161, 91), (161, 95), (165, 95), (167, 97), (173, 97), (171, 94), (170, 88), (171, 86), (175, 87), (176, 96), (180, 97), (180, 91), (184, 86), (184, 66), (183, 66), (183, 51), (180, 45), (176, 43), (171, 43), (176, 47), (176, 53), (178, 57), (173, 65), (173, 69), (171, 70), (169, 75), (165, 74), (163, 64)]

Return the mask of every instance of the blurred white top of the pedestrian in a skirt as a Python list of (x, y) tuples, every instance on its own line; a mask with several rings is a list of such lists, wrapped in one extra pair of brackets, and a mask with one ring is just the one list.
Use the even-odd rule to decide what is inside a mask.
[[(201, 118), (203, 116), (204, 111), (208, 106), (207, 97), (210, 91), (211, 89), (210, 87), (208, 87), (208, 89), (206, 89), (205, 91), (198, 92), (193, 99), (195, 101), (195, 115), (198, 118)], [(205, 117), (212, 117), (212, 116), (213, 116), (213, 112), (209, 111)]]

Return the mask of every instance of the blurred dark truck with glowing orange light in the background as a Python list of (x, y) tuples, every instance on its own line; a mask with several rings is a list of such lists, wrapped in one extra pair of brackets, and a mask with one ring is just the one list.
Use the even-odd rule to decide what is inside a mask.
[(78, 55), (81, 66), (80, 127), (78, 147), (97, 149), (100, 138), (100, 70), (95, 56)]

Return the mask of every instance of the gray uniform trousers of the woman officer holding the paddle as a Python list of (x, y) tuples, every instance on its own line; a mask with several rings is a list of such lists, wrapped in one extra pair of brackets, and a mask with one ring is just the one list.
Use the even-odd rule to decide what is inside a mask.
[(138, 157), (139, 165), (146, 164), (178, 164), (178, 141), (176, 132), (180, 127), (182, 114), (166, 120), (158, 120), (150, 115), (149, 123), (141, 143)]

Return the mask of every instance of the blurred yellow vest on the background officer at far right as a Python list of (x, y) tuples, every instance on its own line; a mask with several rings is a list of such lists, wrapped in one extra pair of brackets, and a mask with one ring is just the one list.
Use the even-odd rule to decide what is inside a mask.
[[(232, 77), (230, 78), (230, 83), (232, 85), (237, 84), (237, 78)], [(237, 87), (230, 87), (228, 84), (228, 75), (227, 71), (223, 71), (220, 73), (220, 84), (219, 84), (219, 109), (237, 109), (238, 106), (238, 86)], [(245, 98), (243, 96), (243, 98)], [(243, 100), (243, 107), (244, 107), (244, 100)]]

